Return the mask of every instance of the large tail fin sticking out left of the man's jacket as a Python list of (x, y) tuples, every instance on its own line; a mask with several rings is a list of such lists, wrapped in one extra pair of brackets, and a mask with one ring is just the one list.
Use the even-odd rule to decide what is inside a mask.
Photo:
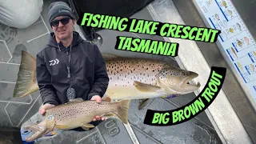
[(18, 78), (14, 87), (14, 98), (25, 97), (39, 90), (36, 81), (36, 59), (22, 50), (22, 60), (18, 70)]

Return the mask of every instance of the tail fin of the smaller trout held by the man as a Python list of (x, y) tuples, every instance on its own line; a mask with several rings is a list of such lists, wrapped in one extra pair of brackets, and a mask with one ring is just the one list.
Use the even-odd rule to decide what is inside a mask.
[(118, 104), (118, 110), (114, 112), (123, 123), (128, 123), (128, 111), (130, 108), (130, 99), (115, 102)]

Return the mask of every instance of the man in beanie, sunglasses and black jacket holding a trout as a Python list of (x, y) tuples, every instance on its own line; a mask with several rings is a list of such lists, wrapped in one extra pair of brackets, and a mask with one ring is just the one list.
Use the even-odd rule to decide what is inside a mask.
[[(74, 14), (65, 2), (51, 3), (48, 17), (54, 32), (37, 54), (37, 81), (43, 102), (40, 113), (72, 98), (101, 102), (109, 78), (98, 46), (73, 31)], [(92, 120), (102, 122), (105, 118)]]

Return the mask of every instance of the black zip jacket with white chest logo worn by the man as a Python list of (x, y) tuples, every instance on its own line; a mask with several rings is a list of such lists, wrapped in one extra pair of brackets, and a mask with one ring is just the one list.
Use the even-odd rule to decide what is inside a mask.
[[(54, 33), (50, 34), (50, 41), (37, 54), (36, 74), (43, 104), (47, 102), (58, 105), (68, 102), (66, 90), (70, 83), (76, 98), (89, 100), (94, 95), (102, 97), (106, 92), (109, 77), (98, 46), (83, 40), (78, 32), (73, 33), (71, 46), (71, 78), (67, 78), (66, 67), (66, 64), (69, 65), (70, 46), (66, 48), (62, 42), (58, 44)], [(63, 58), (66, 59), (66, 64)]]

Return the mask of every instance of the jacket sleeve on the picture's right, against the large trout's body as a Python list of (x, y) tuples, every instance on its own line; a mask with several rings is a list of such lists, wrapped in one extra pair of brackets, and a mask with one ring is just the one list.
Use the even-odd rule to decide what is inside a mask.
[(89, 99), (91, 99), (94, 95), (99, 95), (102, 98), (106, 93), (110, 80), (106, 71), (106, 62), (102, 58), (102, 54), (96, 45), (94, 45), (94, 58), (94, 84), (90, 89), (90, 93), (88, 94)]

